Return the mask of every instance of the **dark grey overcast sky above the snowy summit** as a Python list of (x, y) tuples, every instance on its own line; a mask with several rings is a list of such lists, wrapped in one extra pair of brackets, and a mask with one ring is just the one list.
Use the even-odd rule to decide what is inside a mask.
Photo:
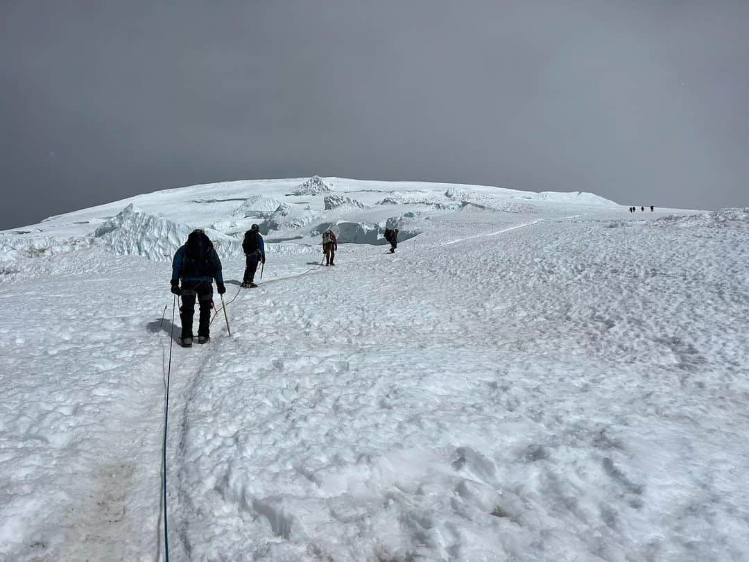
[(746, 0), (0, 0), (0, 229), (313, 174), (749, 206), (748, 27)]

